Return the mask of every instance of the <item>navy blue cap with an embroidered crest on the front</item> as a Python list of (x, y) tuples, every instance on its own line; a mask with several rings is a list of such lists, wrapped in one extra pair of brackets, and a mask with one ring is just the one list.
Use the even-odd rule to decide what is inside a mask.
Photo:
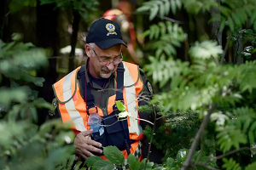
[(121, 35), (120, 26), (112, 20), (104, 18), (96, 20), (90, 26), (86, 42), (94, 42), (102, 49), (108, 49), (117, 44), (122, 44), (127, 48)]

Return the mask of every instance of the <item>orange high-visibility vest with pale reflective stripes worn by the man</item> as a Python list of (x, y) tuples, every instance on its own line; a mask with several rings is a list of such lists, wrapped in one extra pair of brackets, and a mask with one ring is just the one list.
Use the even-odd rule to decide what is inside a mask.
[[(140, 139), (143, 134), (142, 127), (136, 118), (139, 118), (136, 107), (138, 106), (138, 94), (143, 90), (143, 81), (139, 77), (139, 69), (137, 65), (124, 62), (124, 88), (123, 97), (126, 111), (131, 113), (131, 117), (127, 117), (130, 139), (136, 140), (131, 144), (131, 154), (137, 156), (139, 161), (142, 161), (142, 146)], [(58, 100), (58, 108), (61, 113), (63, 123), (72, 122), (73, 129), (78, 131), (86, 131), (90, 129), (88, 123), (88, 114), (86, 111), (86, 103), (80, 94), (79, 81), (77, 73), (80, 67), (63, 77), (59, 82), (55, 82), (53, 89), (55, 97)], [(115, 105), (115, 96), (108, 98), (108, 114), (113, 112)], [(98, 108), (98, 113), (103, 116), (102, 110)], [(134, 118), (135, 117), (135, 118)], [(128, 155), (126, 150), (122, 150), (125, 160)], [(106, 159), (105, 156), (102, 156)]]

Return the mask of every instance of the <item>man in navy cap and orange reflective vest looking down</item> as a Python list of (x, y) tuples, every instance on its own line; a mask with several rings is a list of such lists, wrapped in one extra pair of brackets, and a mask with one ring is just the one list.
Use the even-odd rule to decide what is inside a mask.
[[(125, 159), (131, 153), (141, 161), (148, 154), (147, 150), (142, 152), (143, 143), (148, 144), (142, 131), (147, 122), (137, 118), (154, 120), (146, 113), (138, 113), (136, 107), (147, 104), (152, 87), (137, 65), (122, 62), (121, 45), (126, 45), (118, 24), (103, 18), (96, 20), (86, 42), (85, 65), (53, 85), (53, 105), (59, 114), (51, 113), (50, 118), (60, 115), (62, 122), (73, 123), (76, 154), (84, 159), (95, 155), (104, 158), (102, 146), (115, 145)], [(117, 100), (131, 113), (127, 120), (118, 120)], [(93, 132), (88, 123), (88, 117), (95, 112), (102, 116), (98, 132)]]

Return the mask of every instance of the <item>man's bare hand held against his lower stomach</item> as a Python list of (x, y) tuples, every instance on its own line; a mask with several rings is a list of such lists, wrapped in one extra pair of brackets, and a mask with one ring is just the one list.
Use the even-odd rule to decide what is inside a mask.
[(81, 132), (77, 134), (73, 142), (76, 148), (76, 154), (78, 154), (79, 156), (82, 156), (84, 159), (87, 159), (90, 156), (94, 156), (91, 153), (91, 151), (102, 154), (102, 150), (96, 148), (96, 147), (101, 148), (102, 144), (96, 142), (95, 140), (91, 140), (89, 138), (89, 135), (91, 133), (92, 133), (92, 129), (90, 129), (89, 131)]

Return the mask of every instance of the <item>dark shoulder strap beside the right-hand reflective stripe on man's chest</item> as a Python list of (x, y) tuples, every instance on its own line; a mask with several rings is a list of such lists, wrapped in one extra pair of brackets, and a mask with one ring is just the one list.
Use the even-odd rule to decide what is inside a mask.
[(123, 96), (123, 88), (124, 88), (124, 72), (125, 72), (125, 68), (124, 68), (124, 64), (122, 62), (119, 63), (119, 66), (117, 68), (117, 78), (116, 78), (116, 82), (117, 82), (117, 92), (116, 92), (116, 97), (115, 100), (118, 101), (124, 101), (124, 96)]

